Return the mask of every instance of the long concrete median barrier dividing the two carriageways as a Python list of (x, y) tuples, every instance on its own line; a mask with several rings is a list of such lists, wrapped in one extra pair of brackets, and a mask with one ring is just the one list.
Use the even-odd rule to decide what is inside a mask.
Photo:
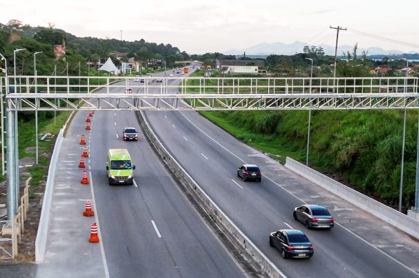
[[(179, 163), (171, 157), (169, 152), (162, 146), (162, 143), (154, 135), (153, 131), (149, 129), (147, 121), (137, 113), (140, 125), (145, 130), (149, 141), (153, 144), (154, 148), (158, 152), (158, 155), (162, 158), (163, 162), (167, 164), (169, 169), (172, 170), (174, 175), (187, 186), (189, 192), (191, 192), (196, 199), (201, 203), (201, 206), (207, 210), (209, 215), (215, 219), (216, 224), (221, 227), (224, 232), (227, 232), (230, 239), (233, 239), (236, 246), (240, 246), (241, 251), (245, 254), (247, 259), (252, 260), (255, 266), (259, 266), (259, 270), (263, 272), (263, 275), (268, 277), (286, 277), (283, 275), (272, 262), (255, 246), (248, 237), (246, 237), (239, 228), (225, 215), (225, 213), (218, 208), (216, 203), (208, 197), (205, 192), (198, 186), (198, 184), (190, 177), (187, 172), (179, 165)], [(268, 240), (268, 239), (267, 239)]]

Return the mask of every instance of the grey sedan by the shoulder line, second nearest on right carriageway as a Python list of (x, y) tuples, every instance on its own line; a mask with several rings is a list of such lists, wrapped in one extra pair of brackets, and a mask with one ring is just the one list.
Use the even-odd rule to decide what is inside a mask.
[(333, 228), (335, 219), (324, 206), (303, 205), (294, 209), (292, 216), (295, 220), (301, 221), (306, 228)]

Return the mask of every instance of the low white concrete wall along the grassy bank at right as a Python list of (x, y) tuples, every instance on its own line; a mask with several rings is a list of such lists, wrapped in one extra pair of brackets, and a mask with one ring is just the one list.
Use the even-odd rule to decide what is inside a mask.
[(327, 177), (290, 157), (286, 158), (285, 166), (306, 179), (317, 183), (317, 185), (322, 186), (322, 188), (346, 199), (346, 201), (350, 201), (355, 206), (370, 212), (372, 215), (387, 221), (389, 224), (400, 228), (400, 230), (404, 230), (404, 232), (419, 239), (419, 222), (415, 219), (412, 219), (402, 212), (394, 210), (379, 201), (375, 201), (348, 186), (344, 186), (344, 184), (330, 179), (330, 177)]

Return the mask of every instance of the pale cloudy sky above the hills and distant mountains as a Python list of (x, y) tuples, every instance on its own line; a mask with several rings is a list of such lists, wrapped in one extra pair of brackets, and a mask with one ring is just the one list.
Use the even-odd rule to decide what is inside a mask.
[(335, 46), (339, 27), (338, 46), (419, 52), (418, 10), (418, 0), (0, 0), (0, 23), (53, 23), (76, 37), (145, 39), (188, 54), (276, 42)]

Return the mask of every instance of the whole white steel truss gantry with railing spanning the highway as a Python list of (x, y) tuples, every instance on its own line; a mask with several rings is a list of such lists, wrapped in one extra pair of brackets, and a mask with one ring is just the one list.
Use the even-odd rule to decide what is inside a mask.
[(416, 77), (135, 79), (12, 76), (0, 85), (13, 111), (419, 108)]

